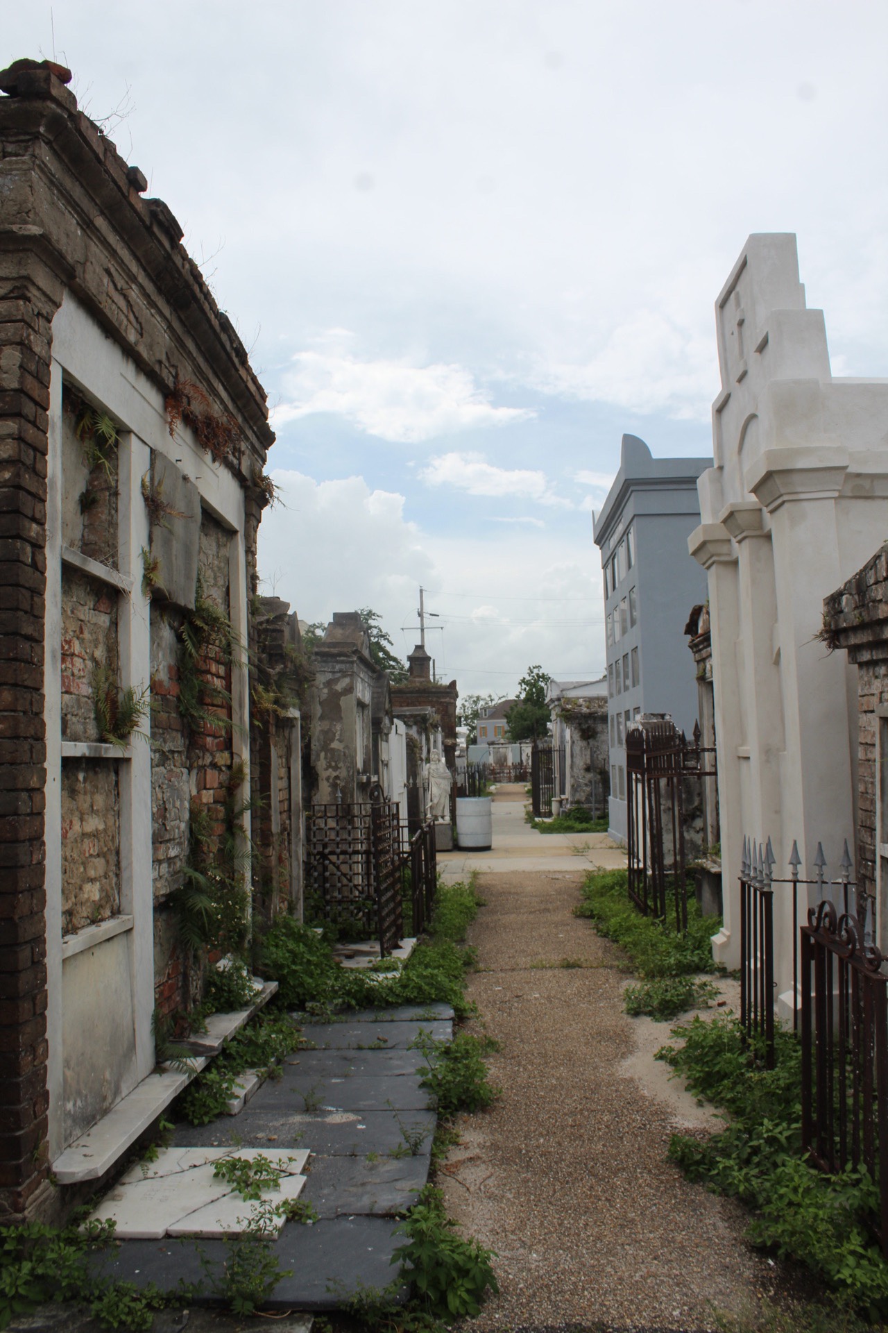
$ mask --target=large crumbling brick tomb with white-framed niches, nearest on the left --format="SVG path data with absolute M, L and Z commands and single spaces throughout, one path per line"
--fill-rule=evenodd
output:
M 250 833 L 249 607 L 270 497 L 244 345 L 69 77 L 48 61 L 0 73 L 0 1205 L 15 1214 L 52 1206 L 51 1172 L 96 1174 L 77 1149 L 96 1121 L 116 1114 L 114 1142 L 150 1122 L 152 1016 L 172 1022 L 201 981 L 180 933 L 185 868 L 218 898 L 210 954 L 249 929 L 233 849 Z M 269 897 L 298 892 L 289 861 L 269 874 Z

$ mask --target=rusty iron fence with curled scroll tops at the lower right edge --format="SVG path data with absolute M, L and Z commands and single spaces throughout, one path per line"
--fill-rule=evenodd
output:
M 888 977 L 860 914 L 829 901 L 801 926 L 801 1141 L 823 1172 L 863 1168 L 888 1257 Z

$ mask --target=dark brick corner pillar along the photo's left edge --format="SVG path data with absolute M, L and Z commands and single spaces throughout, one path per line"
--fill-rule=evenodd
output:
M 45 523 L 61 284 L 0 247 L 0 1213 L 47 1178 Z

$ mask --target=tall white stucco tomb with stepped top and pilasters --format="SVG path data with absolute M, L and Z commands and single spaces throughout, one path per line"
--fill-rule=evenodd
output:
M 724 929 L 739 961 L 743 836 L 817 841 L 837 868 L 855 825 L 856 682 L 819 633 L 823 599 L 885 536 L 888 383 L 832 375 L 792 235 L 751 236 L 716 303 L 715 463 L 699 480 L 691 553 L 708 572 Z M 775 894 L 779 990 L 792 985 L 789 894 Z M 791 1001 L 791 994 L 789 994 Z M 788 1001 L 784 994 L 784 1006 Z M 785 1012 L 785 1008 L 784 1008 Z

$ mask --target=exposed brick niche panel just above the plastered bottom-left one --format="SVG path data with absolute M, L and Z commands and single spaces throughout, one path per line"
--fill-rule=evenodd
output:
M 73 934 L 120 912 L 120 792 L 112 760 L 61 769 L 61 929 Z

